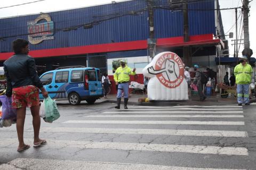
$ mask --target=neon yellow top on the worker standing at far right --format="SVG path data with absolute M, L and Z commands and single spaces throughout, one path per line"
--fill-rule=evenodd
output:
M 252 75 L 252 66 L 250 64 L 242 63 L 236 65 L 234 74 L 236 77 L 236 84 L 250 84 Z

